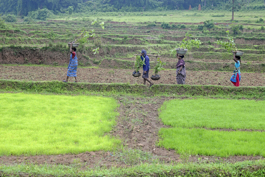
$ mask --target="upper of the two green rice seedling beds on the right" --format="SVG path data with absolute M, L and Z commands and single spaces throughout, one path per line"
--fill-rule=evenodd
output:
M 173 127 L 265 130 L 264 108 L 265 101 L 176 99 L 164 103 L 159 117 Z

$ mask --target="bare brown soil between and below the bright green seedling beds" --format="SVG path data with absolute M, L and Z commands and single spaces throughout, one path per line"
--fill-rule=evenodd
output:
M 109 132 L 110 135 L 120 138 L 125 148 L 136 148 L 149 152 L 154 158 L 158 158 L 164 163 L 182 162 L 180 155 L 172 149 L 157 147 L 158 131 L 161 127 L 166 127 L 158 119 L 157 109 L 166 100 L 173 98 L 135 98 L 122 97 L 116 98 L 120 107 L 118 108 L 119 117 L 117 126 Z M 219 158 L 216 156 L 189 156 L 190 162 L 204 161 L 217 162 L 222 159 L 223 162 L 237 162 L 245 160 L 258 160 L 261 156 L 231 156 L 228 158 Z M 201 159 L 201 160 L 200 160 Z M 199 161 L 198 161 L 199 160 Z M 61 155 L 39 155 L 39 156 L 1 156 L 0 163 L 11 165 L 15 163 L 34 164 L 81 164 L 81 167 L 94 166 L 130 166 L 134 165 L 121 160 L 119 152 L 84 152 L 80 154 L 61 154 Z

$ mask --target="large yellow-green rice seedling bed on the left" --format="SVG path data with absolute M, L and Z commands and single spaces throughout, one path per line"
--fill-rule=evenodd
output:
M 66 154 L 110 150 L 115 125 L 112 98 L 0 94 L 0 155 Z

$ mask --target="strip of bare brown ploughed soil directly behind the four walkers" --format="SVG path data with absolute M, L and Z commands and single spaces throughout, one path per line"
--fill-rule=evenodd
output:
M 188 85 L 222 85 L 233 86 L 229 81 L 231 72 L 215 71 L 187 71 L 186 84 Z M 65 67 L 38 67 L 38 66 L 6 66 L 0 65 L 0 79 L 16 79 L 23 81 L 62 81 L 66 78 Z M 104 68 L 78 68 L 77 78 L 79 82 L 89 83 L 130 83 L 142 84 L 141 77 L 134 78 L 131 69 L 104 69 Z M 240 86 L 264 86 L 264 73 L 242 73 Z M 149 77 L 152 76 L 152 70 Z M 155 84 L 176 84 L 176 70 L 164 70 L 160 72 L 161 78 L 153 81 Z M 259 79 L 254 79 L 259 78 Z M 70 82 L 74 78 L 69 79 Z

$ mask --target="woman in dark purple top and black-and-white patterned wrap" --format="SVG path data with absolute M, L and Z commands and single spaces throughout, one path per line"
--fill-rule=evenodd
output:
M 184 55 L 177 54 L 177 58 L 179 59 L 177 63 L 177 70 L 176 70 L 176 80 L 177 84 L 185 84 L 186 79 L 186 69 L 185 69 L 185 61 L 183 60 Z

